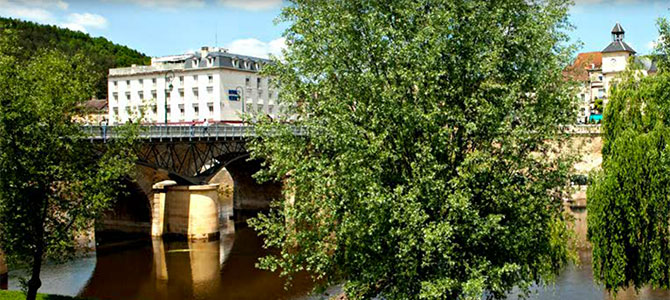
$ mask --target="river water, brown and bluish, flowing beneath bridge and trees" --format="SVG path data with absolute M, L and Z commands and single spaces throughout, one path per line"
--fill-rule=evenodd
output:
M 254 231 L 239 225 L 220 241 L 147 240 L 66 264 L 47 264 L 40 292 L 110 300 L 307 298 L 312 285 L 306 277 L 298 276 L 285 290 L 276 273 L 254 267 L 267 253 Z M 589 253 L 581 258 L 580 266 L 567 268 L 553 286 L 535 288 L 529 299 L 611 299 L 593 282 Z M 10 272 L 10 289 L 19 289 L 20 274 Z M 670 293 L 645 288 L 637 294 L 631 289 L 617 299 L 670 299 Z

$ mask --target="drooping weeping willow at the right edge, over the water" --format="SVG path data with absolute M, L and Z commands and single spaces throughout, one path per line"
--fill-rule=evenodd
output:
M 670 27 L 659 20 L 668 41 Z M 587 191 L 593 275 L 616 293 L 628 286 L 670 288 L 670 73 L 660 45 L 655 76 L 633 65 L 603 115 L 603 162 Z

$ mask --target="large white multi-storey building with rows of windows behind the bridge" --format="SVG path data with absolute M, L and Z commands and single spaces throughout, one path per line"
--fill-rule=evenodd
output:
M 243 112 L 276 116 L 277 91 L 258 71 L 268 60 L 203 47 L 194 54 L 153 58 L 150 66 L 109 70 L 109 120 L 239 121 Z M 166 103 L 167 101 L 167 103 Z

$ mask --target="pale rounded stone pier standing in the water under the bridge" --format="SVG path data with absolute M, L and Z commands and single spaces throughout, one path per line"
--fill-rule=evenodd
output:
M 218 185 L 154 185 L 151 234 L 188 239 L 212 239 L 219 235 Z

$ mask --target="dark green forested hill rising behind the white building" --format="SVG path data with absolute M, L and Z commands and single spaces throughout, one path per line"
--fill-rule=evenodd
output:
M 8 31 L 9 29 L 9 31 Z M 103 37 L 91 37 L 88 34 L 34 22 L 0 17 L 0 35 L 13 33 L 18 35 L 20 52 L 13 55 L 20 59 L 29 59 L 40 49 L 57 49 L 65 54 L 82 53 L 95 65 L 91 76 L 97 76 L 96 95 L 107 98 L 107 72 L 110 68 L 126 67 L 132 64 L 149 64 L 151 58 L 130 49 L 112 43 Z M 85 99 L 82 99 L 85 100 Z

